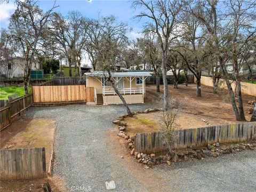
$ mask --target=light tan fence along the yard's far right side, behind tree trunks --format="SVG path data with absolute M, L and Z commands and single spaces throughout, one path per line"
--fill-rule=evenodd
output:
M 196 82 L 196 78 L 194 78 Z M 231 81 L 230 81 L 231 82 Z M 212 77 L 201 76 L 201 85 L 213 86 Z M 227 84 L 224 79 L 220 79 L 220 88 L 227 89 Z M 232 89 L 235 90 L 235 82 L 231 84 Z M 241 82 L 242 93 L 256 96 L 256 84 Z

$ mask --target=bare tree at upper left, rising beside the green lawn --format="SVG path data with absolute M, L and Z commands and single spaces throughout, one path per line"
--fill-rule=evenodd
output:
M 34 62 L 38 42 L 50 22 L 50 17 L 55 7 L 54 4 L 50 10 L 43 12 L 36 5 L 36 2 L 17 1 L 17 9 L 11 15 L 9 25 L 10 35 L 12 41 L 21 48 L 21 53 L 25 57 L 23 77 L 25 94 L 28 94 L 30 71 Z

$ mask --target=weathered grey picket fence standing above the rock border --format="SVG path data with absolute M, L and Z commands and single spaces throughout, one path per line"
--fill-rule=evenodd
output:
M 188 146 L 206 146 L 214 142 L 241 142 L 256 139 L 256 123 L 223 124 L 196 129 L 177 130 L 174 132 L 172 147 L 174 149 Z M 168 145 L 164 132 L 137 133 L 135 151 L 157 153 L 166 151 Z

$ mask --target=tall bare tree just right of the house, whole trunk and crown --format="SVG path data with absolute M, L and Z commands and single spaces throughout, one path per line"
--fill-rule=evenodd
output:
M 177 38 L 177 15 L 181 11 L 182 3 L 179 0 L 174 1 L 143 1 L 133 2 L 134 7 L 145 9 L 135 18 L 148 18 L 150 21 L 145 27 L 145 31 L 151 30 L 158 36 L 158 41 L 162 50 L 162 73 L 164 83 L 164 108 L 167 107 L 168 85 L 166 79 L 166 63 L 169 52 L 169 45 L 173 39 Z

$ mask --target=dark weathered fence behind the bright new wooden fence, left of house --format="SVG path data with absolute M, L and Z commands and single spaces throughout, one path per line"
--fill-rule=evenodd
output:
M 53 85 L 86 85 L 85 77 L 53 77 Z

